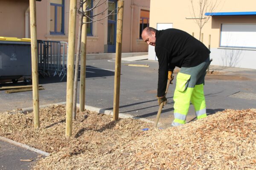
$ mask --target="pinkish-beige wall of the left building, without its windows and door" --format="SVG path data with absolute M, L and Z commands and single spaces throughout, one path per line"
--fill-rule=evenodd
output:
M 69 0 L 65 0 L 64 35 L 51 35 L 50 30 L 50 0 L 36 2 L 37 38 L 38 40 L 68 40 Z M 29 0 L 0 0 L 0 36 L 25 37 L 25 11 L 29 8 Z M 125 0 L 123 21 L 122 52 L 146 52 L 148 45 L 140 40 L 140 10 L 149 10 L 150 0 Z M 96 8 L 97 14 L 105 9 L 105 4 Z M 28 11 L 29 12 L 29 11 Z M 105 15 L 99 15 L 100 19 Z M 102 23 L 102 24 L 101 24 Z M 76 24 L 78 34 L 78 17 Z M 29 23 L 27 23 L 29 31 Z M 107 45 L 107 19 L 93 23 L 93 36 L 87 36 L 87 53 L 104 53 Z M 30 35 L 30 32 L 29 32 Z M 30 37 L 30 36 L 29 36 Z

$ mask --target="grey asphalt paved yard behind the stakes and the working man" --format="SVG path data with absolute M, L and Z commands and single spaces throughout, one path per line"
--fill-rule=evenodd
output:
M 148 64 L 150 67 L 131 67 L 125 64 Z M 113 109 L 114 60 L 88 60 L 86 73 L 86 105 L 102 109 Z M 256 108 L 256 70 L 241 68 L 224 68 L 212 66 L 225 74 L 213 74 L 206 77 L 205 96 L 207 113 L 212 114 L 224 109 Z M 154 120 L 157 114 L 157 72 L 158 62 L 140 60 L 122 62 L 121 91 L 119 111 L 134 116 Z M 176 76 L 176 74 L 175 74 Z M 39 92 L 40 105 L 66 101 L 66 78 L 59 77 L 39 79 L 45 90 Z M 23 85 L 22 82 L 18 83 Z M 7 84 L 1 84 L 6 86 Z M 0 86 L 1 86 L 0 85 Z M 163 108 L 160 122 L 169 126 L 173 119 L 174 85 L 170 85 L 167 99 L 169 103 Z M 79 102 L 79 96 L 78 96 Z M 0 91 L 0 112 L 32 107 L 32 92 L 6 94 Z M 195 118 L 191 105 L 187 121 Z

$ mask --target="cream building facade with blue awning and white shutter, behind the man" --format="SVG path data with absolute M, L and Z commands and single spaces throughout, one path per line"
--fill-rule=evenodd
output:
M 201 30 L 201 41 L 210 48 L 211 64 L 256 69 L 256 1 L 218 0 L 211 10 L 216 0 L 208 0 L 201 16 L 193 14 L 191 2 L 195 13 L 200 13 L 199 0 L 151 0 L 150 26 L 181 29 L 199 40 L 196 21 L 210 16 Z M 154 47 L 148 51 L 149 59 L 156 59 Z

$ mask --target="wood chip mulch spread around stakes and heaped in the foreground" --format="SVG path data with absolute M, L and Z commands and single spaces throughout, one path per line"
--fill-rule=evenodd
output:
M 32 113 L 13 113 L 0 113 L 0 136 L 51 153 L 34 170 L 256 169 L 256 109 L 225 110 L 164 130 L 85 111 L 77 113 L 72 137 L 65 137 L 65 106 L 42 108 L 37 130 Z

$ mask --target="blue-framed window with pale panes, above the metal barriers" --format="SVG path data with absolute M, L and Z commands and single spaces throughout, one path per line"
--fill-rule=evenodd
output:
M 64 0 L 51 0 L 50 34 L 64 34 Z

